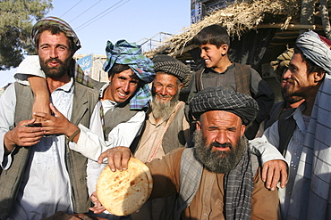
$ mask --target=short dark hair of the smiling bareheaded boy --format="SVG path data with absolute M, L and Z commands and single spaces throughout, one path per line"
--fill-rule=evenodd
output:
M 210 25 L 201 29 L 193 38 L 195 45 L 216 45 L 219 48 L 221 45 L 230 46 L 230 37 L 225 28 L 220 25 Z

